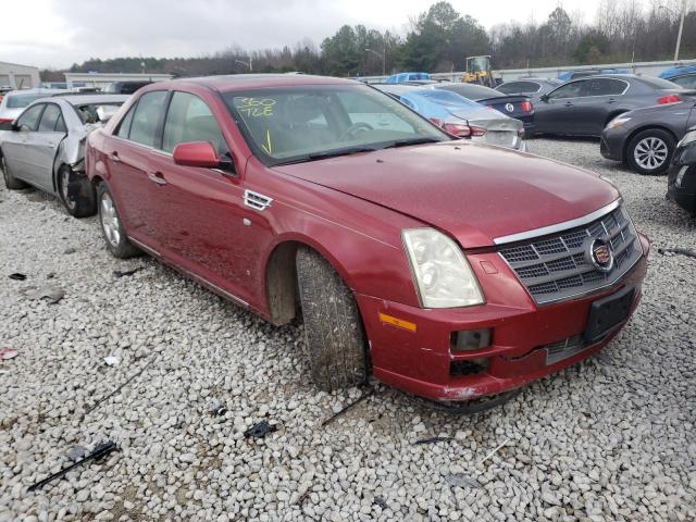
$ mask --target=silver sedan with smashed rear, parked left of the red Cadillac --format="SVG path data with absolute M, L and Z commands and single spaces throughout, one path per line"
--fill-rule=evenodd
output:
M 76 217 L 96 212 L 84 173 L 85 140 L 126 100 L 125 95 L 69 95 L 35 101 L 0 130 L 0 169 L 8 189 L 33 185 L 58 196 Z

